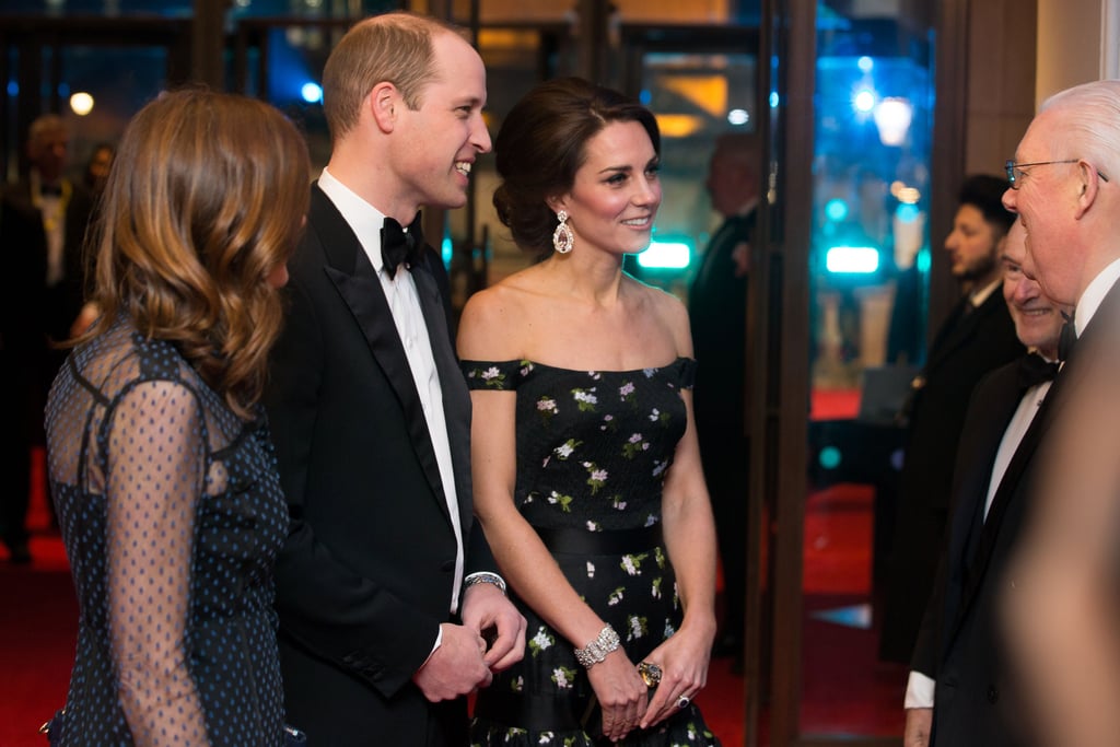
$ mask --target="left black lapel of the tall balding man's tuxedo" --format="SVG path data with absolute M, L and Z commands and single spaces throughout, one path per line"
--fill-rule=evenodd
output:
M 450 521 L 428 421 L 381 280 L 349 224 L 317 186 L 311 193 L 310 215 L 328 261 L 324 271 L 354 315 L 370 353 L 396 394 L 404 410 L 412 447 L 423 466 L 428 483 L 439 498 L 441 510 Z M 429 316 L 427 311 L 424 316 Z M 432 344 L 433 347 L 439 346 L 435 339 Z

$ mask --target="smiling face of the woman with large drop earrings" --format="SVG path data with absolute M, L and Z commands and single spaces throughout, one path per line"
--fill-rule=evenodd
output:
M 568 212 L 576 251 L 635 253 L 650 245 L 661 205 L 657 153 L 638 122 L 612 122 L 587 141 L 571 192 L 554 200 Z

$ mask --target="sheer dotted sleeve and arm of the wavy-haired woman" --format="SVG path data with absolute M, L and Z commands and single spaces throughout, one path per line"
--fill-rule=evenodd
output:
M 138 747 L 208 744 L 187 654 L 203 417 L 188 387 L 157 381 L 123 394 L 109 423 L 109 627 Z

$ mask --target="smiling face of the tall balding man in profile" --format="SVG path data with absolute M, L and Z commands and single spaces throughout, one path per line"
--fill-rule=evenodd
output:
M 432 48 L 436 77 L 423 87 L 419 109 L 398 104 L 393 171 L 402 183 L 402 199 L 418 207 L 461 207 L 475 159 L 491 149 L 482 114 L 486 71 L 478 54 L 455 34 L 437 34 Z

